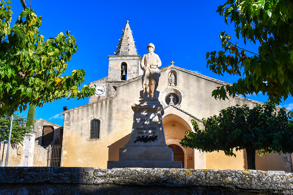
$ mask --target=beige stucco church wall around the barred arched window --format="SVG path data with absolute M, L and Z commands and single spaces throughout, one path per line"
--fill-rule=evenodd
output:
M 118 160 L 118 149 L 129 140 L 133 113 L 131 107 L 107 99 L 82 109 L 65 113 L 62 166 L 107 167 L 107 161 Z M 90 121 L 100 123 L 100 138 L 90 139 Z

